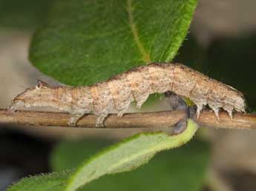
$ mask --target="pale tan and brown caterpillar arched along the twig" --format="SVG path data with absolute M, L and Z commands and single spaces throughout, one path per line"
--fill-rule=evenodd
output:
M 232 118 L 233 110 L 245 112 L 243 94 L 229 85 L 216 81 L 183 64 L 152 63 L 128 70 L 113 78 L 91 86 L 52 87 L 39 81 L 13 99 L 8 110 L 22 107 L 55 107 L 70 113 L 69 124 L 85 113 L 94 113 L 96 127 L 104 126 L 108 113 L 115 110 L 119 117 L 126 112 L 131 101 L 138 108 L 152 93 L 171 91 L 189 98 L 197 106 L 197 117 L 207 104 L 219 120 L 223 108 Z

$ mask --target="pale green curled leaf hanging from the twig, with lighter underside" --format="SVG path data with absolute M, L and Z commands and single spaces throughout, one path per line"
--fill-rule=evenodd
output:
M 156 153 L 185 144 L 196 131 L 197 124 L 188 119 L 188 127 L 179 135 L 143 133 L 128 138 L 85 161 L 70 177 L 66 190 L 77 190 L 102 175 L 134 170 L 146 164 Z

